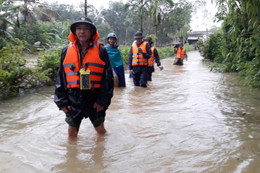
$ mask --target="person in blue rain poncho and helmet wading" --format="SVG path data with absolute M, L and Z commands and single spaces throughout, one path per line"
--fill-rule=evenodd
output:
M 123 60 L 117 45 L 117 36 L 115 33 L 109 33 L 107 35 L 108 45 L 105 46 L 110 58 L 110 62 L 115 72 L 114 80 L 118 81 L 118 87 L 125 87 L 125 71 L 123 66 Z M 116 85 L 116 84 L 115 84 Z

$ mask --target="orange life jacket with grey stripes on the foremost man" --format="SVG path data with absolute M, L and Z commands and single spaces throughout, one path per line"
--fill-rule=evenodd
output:
M 80 52 L 76 42 L 70 42 L 67 54 L 63 61 L 63 67 L 66 74 L 67 88 L 80 88 L 80 69 L 90 70 L 91 88 L 100 88 L 102 74 L 106 63 L 100 59 L 99 46 L 101 43 L 94 44 L 86 53 L 83 64 L 81 64 Z

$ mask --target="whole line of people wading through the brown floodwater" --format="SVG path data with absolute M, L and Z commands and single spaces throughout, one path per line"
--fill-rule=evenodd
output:
M 83 118 L 89 118 L 98 134 L 105 134 L 106 110 L 111 104 L 114 77 L 118 86 L 125 87 L 123 60 L 117 45 L 117 35 L 107 35 L 107 45 L 99 40 L 92 21 L 80 16 L 70 26 L 69 45 L 63 48 L 58 70 L 54 102 L 66 114 L 68 136 L 78 136 Z M 159 54 L 151 37 L 143 38 L 137 31 L 129 52 L 129 71 L 135 86 L 147 87 L 152 81 L 154 63 L 160 70 Z M 182 65 L 185 49 L 181 44 L 176 51 L 176 65 Z

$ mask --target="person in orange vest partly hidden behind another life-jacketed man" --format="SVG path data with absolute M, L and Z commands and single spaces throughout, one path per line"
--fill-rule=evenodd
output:
M 147 80 L 152 81 L 152 73 L 154 72 L 154 61 L 160 70 L 163 70 L 163 67 L 161 66 L 160 57 L 156 47 L 152 46 L 153 44 L 152 37 L 145 37 L 144 40 L 147 41 L 147 43 L 151 46 L 151 51 L 152 51 L 152 56 L 148 59 L 148 72 L 147 72 Z

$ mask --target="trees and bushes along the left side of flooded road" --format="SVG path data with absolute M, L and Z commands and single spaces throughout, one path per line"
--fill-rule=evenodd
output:
M 113 2 L 100 11 L 93 6 L 87 6 L 85 11 L 85 5 L 75 10 L 70 5 L 0 0 L 1 98 L 15 96 L 20 90 L 54 84 L 61 50 L 69 43 L 70 25 L 80 15 L 87 13 L 92 19 L 104 44 L 108 33 L 118 35 L 126 67 L 137 30 L 154 35 L 161 57 L 171 56 L 172 38 L 184 38 L 192 12 L 192 4 L 172 0 Z M 176 17 L 181 22 L 173 20 Z M 30 54 L 38 55 L 33 67 L 27 65 Z

